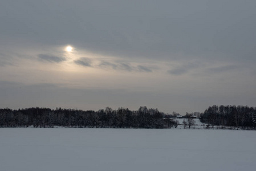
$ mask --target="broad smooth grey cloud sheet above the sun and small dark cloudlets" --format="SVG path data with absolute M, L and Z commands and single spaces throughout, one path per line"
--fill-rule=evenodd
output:
M 157 56 L 173 60 L 176 54 L 183 54 L 182 59 L 255 62 L 256 22 L 251 21 L 255 19 L 256 1 L 161 1 L 157 8 L 153 0 L 134 2 L 138 4 L 74 1 L 71 9 L 70 1 L 35 1 L 31 2 L 32 8 L 23 2 L 13 6 L 10 1 L 1 1 L 0 44 L 20 36 L 23 44 L 55 46 L 56 42 L 74 42 L 88 51 L 136 59 Z

